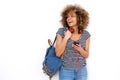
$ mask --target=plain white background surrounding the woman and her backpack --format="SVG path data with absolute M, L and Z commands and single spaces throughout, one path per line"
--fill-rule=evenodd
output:
M 1 0 L 0 80 L 48 80 L 47 39 L 61 27 L 62 9 L 75 3 L 90 14 L 88 80 L 120 80 L 119 0 Z

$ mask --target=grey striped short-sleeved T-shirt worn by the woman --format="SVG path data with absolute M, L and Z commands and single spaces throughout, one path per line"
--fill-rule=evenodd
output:
M 62 38 L 64 37 L 64 31 L 66 31 L 65 28 L 59 28 L 56 34 L 59 34 Z M 90 34 L 88 31 L 83 30 L 81 37 L 77 42 L 80 43 L 81 47 L 85 47 L 86 40 L 90 37 Z M 63 57 L 63 65 L 62 67 L 68 68 L 68 69 L 76 69 L 76 68 L 82 68 L 86 66 L 86 59 L 76 50 L 72 47 L 73 44 L 72 39 L 68 39 L 66 44 L 66 50 L 65 55 Z

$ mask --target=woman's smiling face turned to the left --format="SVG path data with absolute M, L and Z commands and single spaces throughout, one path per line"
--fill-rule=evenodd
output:
M 77 15 L 74 11 L 70 11 L 67 14 L 67 24 L 69 25 L 69 27 L 74 27 L 77 26 Z

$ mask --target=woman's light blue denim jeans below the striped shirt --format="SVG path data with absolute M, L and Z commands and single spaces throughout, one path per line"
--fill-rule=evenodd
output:
M 59 80 L 87 80 L 87 68 L 86 66 L 81 69 L 62 67 L 59 71 Z

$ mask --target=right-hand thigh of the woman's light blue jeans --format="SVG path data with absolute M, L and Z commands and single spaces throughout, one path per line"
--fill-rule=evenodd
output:
M 86 67 L 83 67 L 82 69 L 78 70 L 77 80 L 87 80 L 87 68 Z

